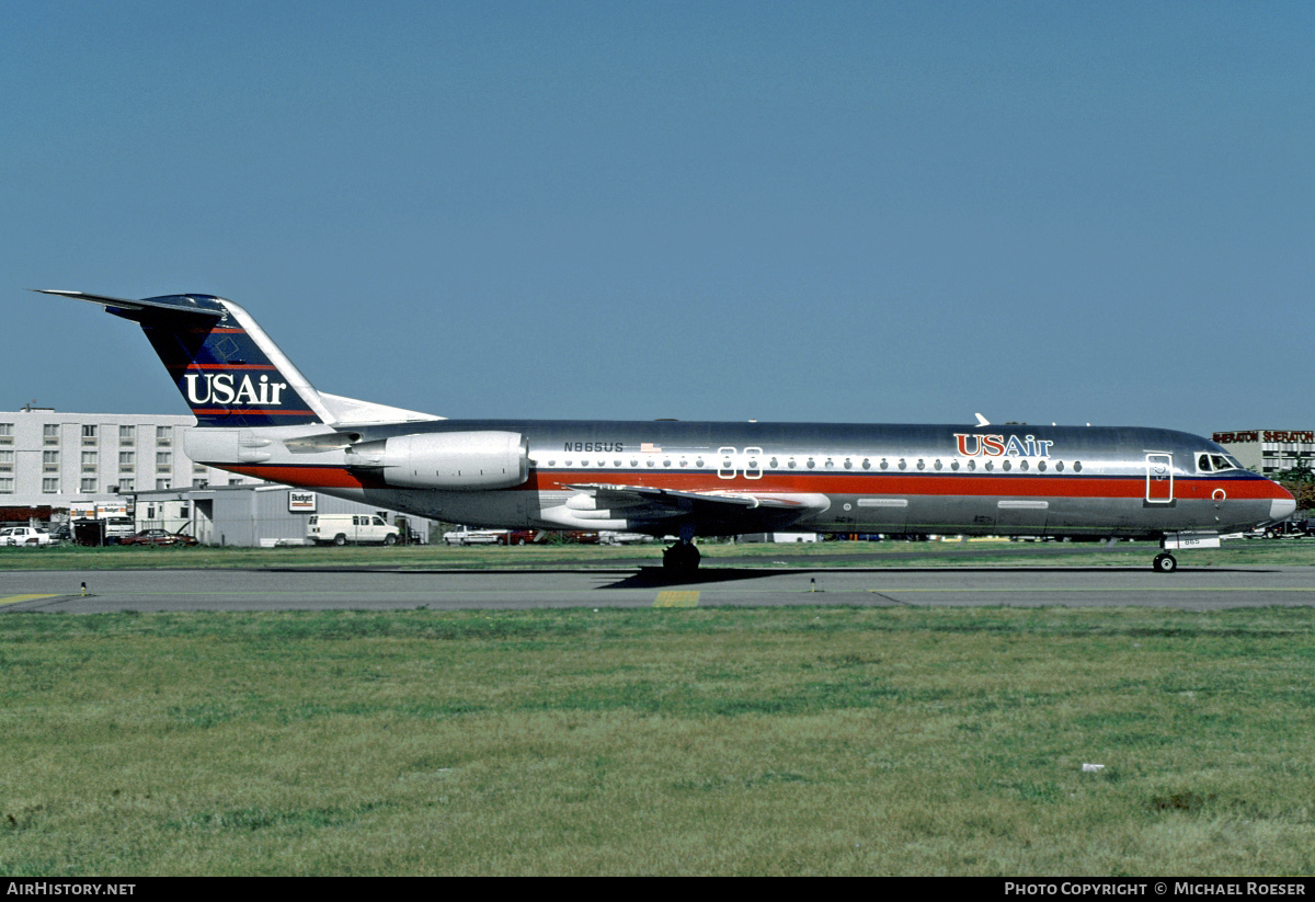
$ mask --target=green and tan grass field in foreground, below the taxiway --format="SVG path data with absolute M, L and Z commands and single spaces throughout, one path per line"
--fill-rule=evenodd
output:
M 1310 874 L 1312 665 L 1310 609 L 7 613 L 0 874 Z

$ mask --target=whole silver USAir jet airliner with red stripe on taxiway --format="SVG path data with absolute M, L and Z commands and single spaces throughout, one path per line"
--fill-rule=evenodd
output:
M 47 291 L 142 326 L 196 415 L 196 463 L 494 529 L 778 530 L 1155 539 L 1170 551 L 1289 517 L 1293 496 L 1164 429 L 444 419 L 316 391 L 212 295 Z

